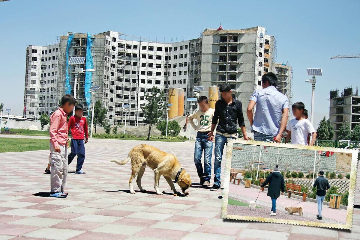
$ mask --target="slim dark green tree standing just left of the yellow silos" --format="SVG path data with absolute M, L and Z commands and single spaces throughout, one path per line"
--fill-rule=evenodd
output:
M 164 92 L 158 91 L 156 87 L 153 87 L 150 93 L 146 92 L 144 96 L 147 102 L 141 107 L 141 111 L 144 113 L 144 123 L 149 124 L 149 140 L 151 127 L 161 119 L 166 104 L 163 102 Z

